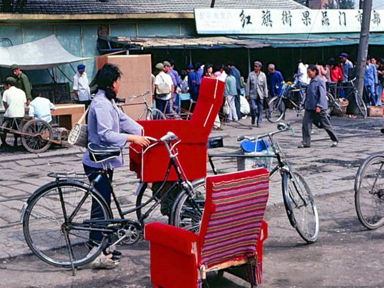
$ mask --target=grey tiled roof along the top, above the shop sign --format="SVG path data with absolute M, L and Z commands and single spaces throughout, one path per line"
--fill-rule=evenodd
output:
M 210 4 L 211 0 L 28 0 L 23 10 L 17 13 L 193 13 L 194 8 L 209 8 Z M 293 0 L 216 0 L 215 8 L 300 9 L 305 7 Z

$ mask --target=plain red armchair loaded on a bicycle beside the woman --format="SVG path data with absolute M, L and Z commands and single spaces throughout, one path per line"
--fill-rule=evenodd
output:
M 188 180 L 195 180 L 207 175 L 207 142 L 215 117 L 223 103 L 224 82 L 204 77 L 200 84 L 199 99 L 190 120 L 150 120 L 138 121 L 144 127 L 144 135 L 160 138 L 168 131 L 177 135 L 181 143 L 179 161 Z M 164 180 L 169 156 L 164 145 L 157 145 L 142 154 L 141 147 L 129 146 L 130 169 L 144 182 Z M 177 180 L 171 170 L 169 181 Z

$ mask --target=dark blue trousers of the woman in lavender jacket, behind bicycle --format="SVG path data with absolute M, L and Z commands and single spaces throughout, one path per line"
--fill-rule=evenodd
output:
M 83 164 L 84 172 L 85 173 L 92 173 L 100 171 L 100 168 L 93 168 L 91 166 Z M 99 173 L 93 173 L 88 176 L 89 182 L 93 181 Z M 101 174 L 101 180 L 98 181 L 98 183 L 95 183 L 95 188 L 98 190 L 98 192 L 103 196 L 104 200 L 106 201 L 107 205 L 111 207 L 111 186 L 108 183 L 107 176 L 105 174 Z M 113 170 L 108 169 L 108 176 L 109 180 L 112 181 L 113 178 Z M 103 210 L 101 210 L 100 205 L 97 203 L 97 201 L 94 201 L 92 199 L 92 210 L 91 210 L 91 219 L 100 218 L 103 216 Z M 94 246 L 92 243 L 97 242 L 100 243 L 101 240 L 103 240 L 103 234 L 99 231 L 91 231 L 89 233 L 89 241 L 90 245 Z

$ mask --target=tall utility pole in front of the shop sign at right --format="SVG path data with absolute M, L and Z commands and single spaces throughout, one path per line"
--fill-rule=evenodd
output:
M 364 0 L 362 21 L 361 21 L 360 41 L 359 41 L 359 51 L 358 51 L 358 58 L 357 58 L 357 64 L 356 64 L 357 85 L 358 85 L 358 91 L 360 95 L 363 95 L 363 90 L 364 90 L 364 73 L 365 73 L 365 66 L 367 65 L 366 63 L 367 63 L 367 54 L 368 54 L 369 24 L 371 23 L 371 10 L 372 10 L 372 0 Z M 358 114 L 357 105 L 353 105 L 353 107 L 354 107 L 353 112 L 355 112 L 354 114 Z

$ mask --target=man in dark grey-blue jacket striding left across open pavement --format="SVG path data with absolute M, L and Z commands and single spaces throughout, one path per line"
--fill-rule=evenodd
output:
M 309 65 L 307 73 L 308 77 L 311 78 L 311 81 L 307 88 L 307 95 L 304 102 L 303 144 L 299 145 L 298 148 L 307 148 L 311 146 L 312 123 L 318 128 L 325 129 L 333 141 L 331 147 L 336 147 L 338 138 L 333 131 L 326 112 L 328 109 L 328 102 L 326 98 L 327 92 L 325 82 L 318 76 L 319 71 L 315 65 Z

